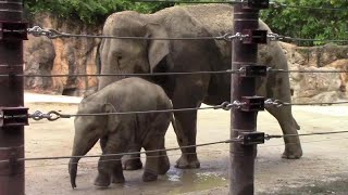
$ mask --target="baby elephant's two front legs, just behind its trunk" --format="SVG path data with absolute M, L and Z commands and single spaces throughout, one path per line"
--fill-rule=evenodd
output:
M 124 176 L 121 164 L 121 155 L 113 155 L 119 153 L 124 153 L 126 142 L 119 139 L 116 135 L 110 135 L 105 147 L 103 150 L 103 155 L 100 157 L 98 162 L 98 177 L 96 178 L 95 185 L 107 187 L 112 182 L 123 183 Z M 110 155 L 110 156 L 108 156 Z

